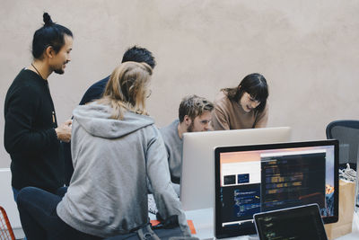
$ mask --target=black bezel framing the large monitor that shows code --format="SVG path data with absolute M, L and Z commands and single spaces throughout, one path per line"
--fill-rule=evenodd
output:
M 333 146 L 334 147 L 334 216 L 322 218 L 325 224 L 334 223 L 338 220 L 338 156 L 339 148 L 336 139 L 317 140 L 317 141 L 304 141 L 304 142 L 290 142 L 290 143 L 275 143 L 275 144 L 261 144 L 250 146 L 237 146 L 237 147 L 216 147 L 215 148 L 215 237 L 224 238 L 231 236 L 245 236 L 256 234 L 256 227 L 253 222 L 252 227 L 246 229 L 225 229 L 221 223 L 221 176 L 220 176 L 220 154 L 229 152 L 244 152 L 255 150 L 269 150 L 279 148 L 295 148 L 295 147 L 320 147 L 320 146 Z

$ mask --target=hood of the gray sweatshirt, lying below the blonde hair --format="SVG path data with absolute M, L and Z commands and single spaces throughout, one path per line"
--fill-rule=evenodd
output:
M 120 138 L 154 123 L 152 118 L 132 111 L 125 111 L 123 120 L 110 119 L 111 112 L 109 106 L 92 102 L 77 106 L 73 115 L 83 129 L 101 138 Z

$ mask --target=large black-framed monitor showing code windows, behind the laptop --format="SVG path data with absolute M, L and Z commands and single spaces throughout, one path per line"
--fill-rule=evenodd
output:
M 215 149 L 215 236 L 256 232 L 253 215 L 310 203 L 338 218 L 337 140 Z

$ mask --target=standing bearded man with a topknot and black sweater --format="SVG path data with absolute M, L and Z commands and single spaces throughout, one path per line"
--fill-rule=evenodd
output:
M 71 120 L 57 126 L 49 88 L 52 72 L 64 74 L 71 60 L 73 33 L 43 14 L 44 25 L 32 40 L 33 60 L 8 89 L 4 102 L 4 147 L 12 163 L 13 196 L 27 186 L 59 193 L 64 186 L 60 141 L 71 138 Z

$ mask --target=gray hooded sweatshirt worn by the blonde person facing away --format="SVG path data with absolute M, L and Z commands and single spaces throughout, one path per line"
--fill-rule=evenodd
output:
M 96 102 L 74 109 L 71 139 L 74 174 L 57 215 L 93 236 L 127 234 L 148 221 L 147 180 L 162 218 L 186 216 L 171 185 L 166 149 L 153 120 L 127 111 L 109 119 L 109 106 Z

